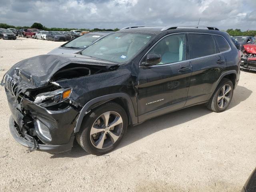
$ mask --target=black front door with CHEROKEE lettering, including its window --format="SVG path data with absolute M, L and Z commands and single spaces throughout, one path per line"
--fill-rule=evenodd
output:
M 139 122 L 182 108 L 191 76 L 186 34 L 168 35 L 148 52 L 160 54 L 161 62 L 140 67 L 138 73 Z M 142 59 L 143 62 L 144 59 Z

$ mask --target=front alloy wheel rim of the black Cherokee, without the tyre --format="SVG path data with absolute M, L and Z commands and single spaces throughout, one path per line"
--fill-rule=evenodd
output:
M 123 120 L 120 114 L 108 111 L 100 115 L 90 130 L 90 140 L 94 147 L 105 149 L 112 146 L 120 137 Z

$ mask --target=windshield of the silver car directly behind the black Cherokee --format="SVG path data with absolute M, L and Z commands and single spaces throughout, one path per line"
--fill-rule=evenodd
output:
M 95 35 L 95 34 L 85 34 L 83 36 L 80 36 L 70 42 L 68 42 L 64 47 L 69 48 L 86 48 L 88 45 L 92 44 L 94 41 L 96 41 L 98 38 L 100 38 L 102 35 Z

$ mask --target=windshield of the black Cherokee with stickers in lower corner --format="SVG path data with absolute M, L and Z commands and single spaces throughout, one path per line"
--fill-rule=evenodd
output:
M 82 55 L 123 63 L 133 58 L 153 37 L 153 34 L 117 32 L 92 44 Z

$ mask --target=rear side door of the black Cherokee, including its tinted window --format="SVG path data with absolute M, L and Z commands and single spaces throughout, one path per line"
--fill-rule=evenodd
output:
M 226 67 L 225 58 L 212 34 L 189 33 L 188 42 L 192 76 L 186 106 L 207 101 Z

